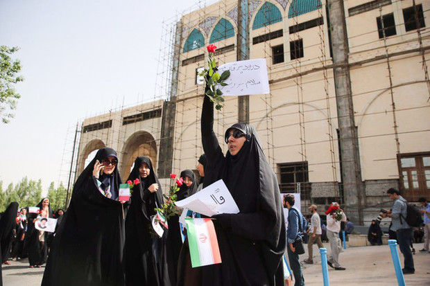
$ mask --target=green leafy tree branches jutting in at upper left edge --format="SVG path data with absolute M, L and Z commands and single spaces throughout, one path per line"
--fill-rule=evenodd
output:
M 17 46 L 0 46 L 0 116 L 3 123 L 9 123 L 9 118 L 15 116 L 11 111 L 17 108 L 17 99 L 21 97 L 15 91 L 15 84 L 24 80 L 17 75 L 21 71 L 21 62 L 10 57 L 18 50 Z

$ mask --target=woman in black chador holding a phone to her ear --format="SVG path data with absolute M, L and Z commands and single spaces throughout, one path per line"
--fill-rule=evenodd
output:
M 118 201 L 117 163 L 117 152 L 103 148 L 78 177 L 53 240 L 42 286 L 125 285 L 126 204 Z

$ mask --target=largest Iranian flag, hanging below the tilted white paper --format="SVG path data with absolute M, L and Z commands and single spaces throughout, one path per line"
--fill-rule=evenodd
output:
M 185 219 L 192 267 L 221 263 L 214 223 L 209 218 Z

